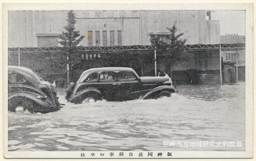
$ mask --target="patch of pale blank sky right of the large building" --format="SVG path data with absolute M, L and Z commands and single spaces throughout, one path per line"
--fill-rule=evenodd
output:
M 220 20 L 220 35 L 245 35 L 244 10 L 213 10 L 211 20 Z

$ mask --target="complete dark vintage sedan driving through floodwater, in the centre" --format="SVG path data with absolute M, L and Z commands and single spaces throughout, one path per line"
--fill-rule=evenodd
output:
M 76 83 L 70 83 L 66 99 L 73 103 L 157 99 L 176 92 L 169 77 L 139 77 L 132 68 L 92 68 L 84 71 Z

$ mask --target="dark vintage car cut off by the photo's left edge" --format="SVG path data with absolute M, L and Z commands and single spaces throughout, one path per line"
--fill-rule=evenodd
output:
M 32 113 L 57 111 L 61 104 L 57 93 L 48 81 L 42 80 L 32 70 L 8 66 L 8 110 Z

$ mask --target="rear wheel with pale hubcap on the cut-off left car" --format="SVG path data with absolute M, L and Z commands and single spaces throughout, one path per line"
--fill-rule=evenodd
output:
M 8 110 L 12 112 L 24 112 L 28 109 L 28 111 L 32 112 L 33 102 L 25 99 L 25 98 L 15 98 L 8 100 Z

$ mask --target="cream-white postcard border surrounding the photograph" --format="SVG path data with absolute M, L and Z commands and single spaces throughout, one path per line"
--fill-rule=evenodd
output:
M 125 5 L 124 5 L 125 4 Z M 253 156 L 253 4 L 252 3 L 5 3 L 3 4 L 3 107 L 8 106 L 8 10 L 246 10 L 246 150 L 245 151 L 172 151 L 171 158 L 251 158 Z M 84 151 L 8 151 L 8 110 L 4 119 L 4 156 L 7 158 L 82 158 Z M 110 151 L 104 151 L 110 152 Z M 120 152 L 120 151 L 113 151 Z M 125 151 L 124 151 L 125 152 Z M 127 151 L 129 153 L 130 151 Z M 138 151 L 136 151 L 138 152 Z M 145 151 L 147 152 L 147 151 Z M 153 151 L 153 153 L 158 151 Z M 90 153 L 87 151 L 86 153 Z M 89 155 L 86 155 L 89 156 Z M 92 157 L 94 158 L 94 157 Z M 100 158 L 100 156 L 95 156 Z M 104 157 L 106 158 L 106 157 Z M 121 158 L 118 156 L 108 158 Z M 134 156 L 134 158 L 138 158 Z M 149 158 L 149 157 L 147 157 Z M 154 157 L 153 157 L 154 158 Z M 158 157 L 155 157 L 158 158 Z M 162 157 L 163 158 L 163 157 Z

